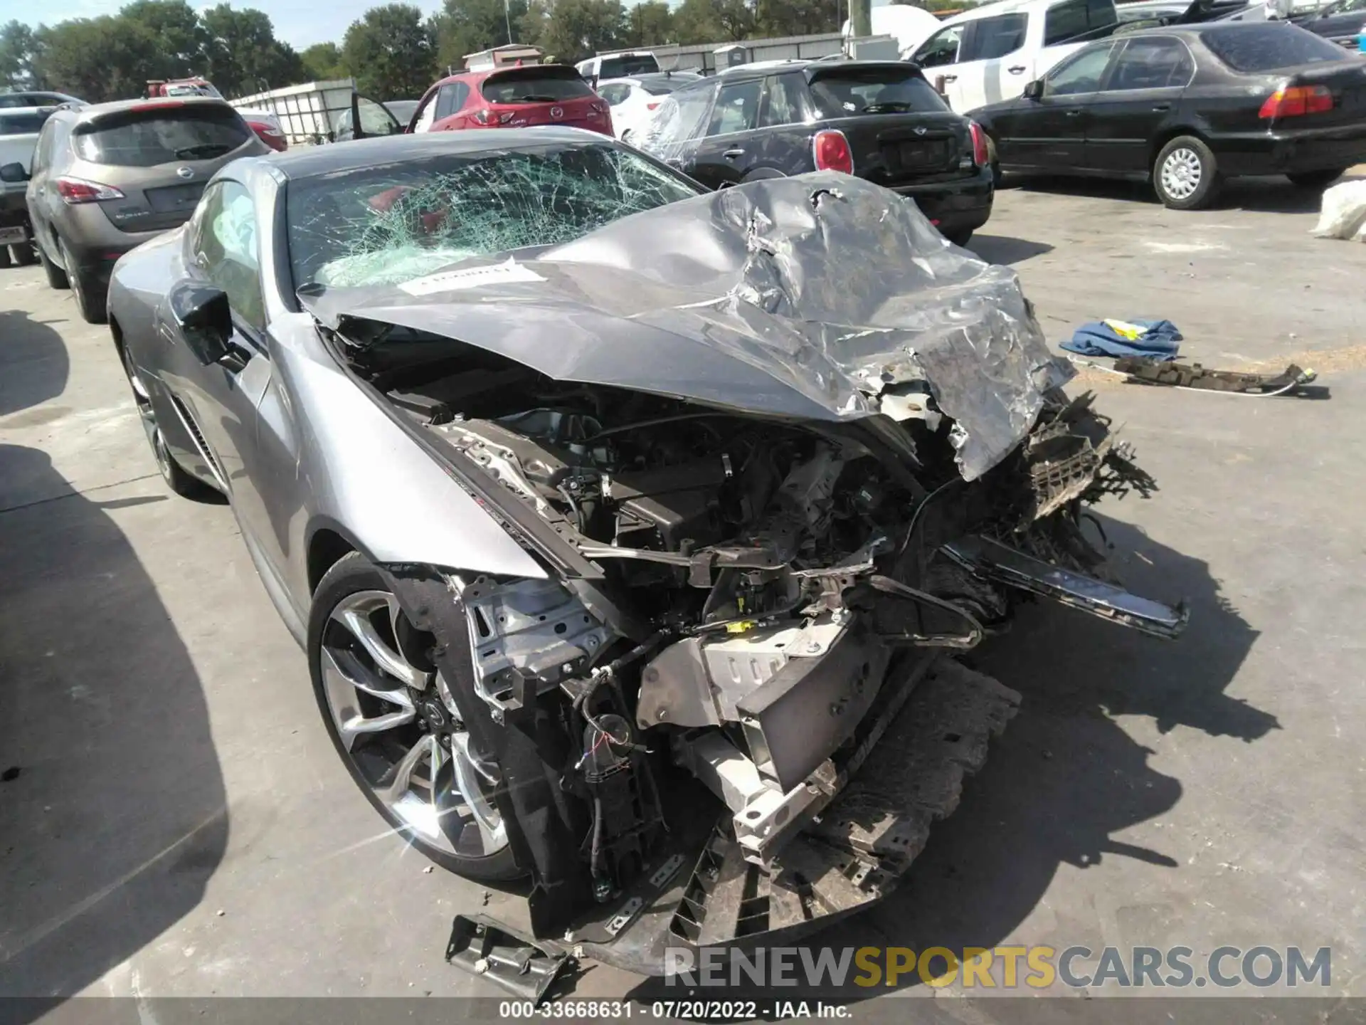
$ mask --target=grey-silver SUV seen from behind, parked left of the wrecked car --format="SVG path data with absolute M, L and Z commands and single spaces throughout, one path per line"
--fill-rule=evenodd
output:
M 109 271 L 130 249 L 178 228 L 213 174 L 266 148 L 221 100 L 122 100 L 63 108 L 42 126 L 27 180 L 38 260 L 53 288 L 70 287 L 81 316 L 105 320 Z

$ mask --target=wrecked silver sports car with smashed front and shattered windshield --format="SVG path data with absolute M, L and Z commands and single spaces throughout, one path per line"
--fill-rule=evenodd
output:
M 1186 623 L 1106 570 L 1087 507 L 1153 482 L 1015 275 L 856 178 L 709 193 L 557 128 L 254 157 L 109 325 L 362 793 L 527 877 L 552 958 L 878 899 L 1019 701 L 955 652 L 1040 596 Z

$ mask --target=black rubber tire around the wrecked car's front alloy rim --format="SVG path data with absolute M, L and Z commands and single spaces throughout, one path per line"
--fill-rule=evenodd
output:
M 322 723 L 332 738 L 332 746 L 336 749 L 342 758 L 342 763 L 347 767 L 351 774 L 351 779 L 355 780 L 361 793 L 365 794 L 370 805 L 380 813 L 380 816 L 389 824 L 393 831 L 403 836 L 411 846 L 417 847 L 425 857 L 434 861 L 441 868 L 454 872 L 466 879 L 474 879 L 481 882 L 505 882 L 512 879 L 519 879 L 525 873 L 516 865 L 512 856 L 511 845 L 504 845 L 500 850 L 482 856 L 471 857 L 467 854 L 460 854 L 454 850 L 443 850 L 429 842 L 417 830 L 408 827 L 393 810 L 380 798 L 376 793 L 376 784 L 373 780 L 366 779 L 363 775 L 359 760 L 366 757 L 370 748 L 358 743 L 358 750 L 355 754 L 350 752 L 342 739 L 342 734 L 337 730 L 336 720 L 333 718 L 332 707 L 328 701 L 326 683 L 324 681 L 322 672 L 322 649 L 324 645 L 329 646 L 332 651 L 332 642 L 335 637 L 329 638 L 329 631 L 336 629 L 337 620 L 333 619 L 333 611 L 347 599 L 362 594 L 363 592 L 384 592 L 389 593 L 389 585 L 385 578 L 376 570 L 376 567 L 366 560 L 359 552 L 351 552 L 337 560 L 332 569 L 329 569 L 322 579 L 318 582 L 317 589 L 313 593 L 313 607 L 309 612 L 309 634 L 307 634 L 307 656 L 309 656 L 309 675 L 313 679 L 313 693 L 318 701 L 318 711 L 322 715 Z M 400 614 L 402 615 L 402 614 Z M 406 622 L 406 620 L 404 620 Z M 411 629 L 411 625 L 410 625 Z M 343 634 L 344 636 L 344 634 Z M 404 648 L 408 645 L 395 644 L 393 648 Z M 392 676 L 387 678 L 387 683 L 403 689 L 403 683 Z M 426 693 L 426 692 L 423 692 Z M 378 701 L 378 698 L 374 698 Z M 391 707 L 392 708 L 392 707 Z M 407 728 L 407 727 L 400 727 Z M 418 730 L 417 724 L 413 724 L 414 731 Z M 366 738 L 374 738 L 369 743 L 377 742 L 380 738 L 387 737 L 387 733 L 372 733 L 362 734 Z M 421 734 L 417 734 L 421 735 Z M 402 745 L 400 745 L 402 746 Z M 373 756 L 370 756 L 373 758 Z M 449 816 L 443 816 L 444 823 L 460 821 L 459 819 L 451 819 Z M 467 827 L 469 828 L 469 827 Z M 463 834 L 462 834 L 463 836 Z

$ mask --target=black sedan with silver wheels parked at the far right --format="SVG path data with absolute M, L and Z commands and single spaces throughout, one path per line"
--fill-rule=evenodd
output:
M 1225 178 L 1322 187 L 1366 161 L 1366 60 L 1279 22 L 1149 29 L 970 116 L 999 172 L 1152 180 L 1168 206 L 1197 209 Z

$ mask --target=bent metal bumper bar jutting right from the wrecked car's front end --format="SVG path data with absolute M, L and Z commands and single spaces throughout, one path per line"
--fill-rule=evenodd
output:
M 951 541 L 944 545 L 944 554 L 996 584 L 1050 597 L 1153 637 L 1177 637 L 1190 620 L 1186 601 L 1172 608 L 1161 601 L 1138 597 L 1113 584 L 1050 566 L 988 537 Z

